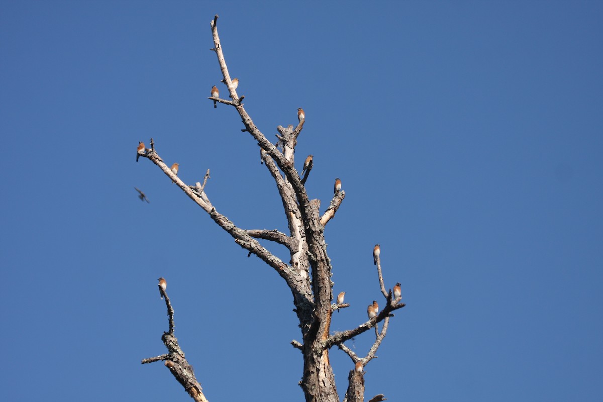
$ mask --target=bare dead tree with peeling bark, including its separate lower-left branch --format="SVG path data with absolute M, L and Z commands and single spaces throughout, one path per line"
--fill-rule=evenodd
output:
M 204 192 L 204 187 L 209 178 L 209 169 L 203 179 L 203 184 L 200 182 L 194 185 L 184 183 L 177 176 L 178 166 L 172 165 L 170 168 L 163 163 L 157 153 L 153 139 L 151 139 L 150 149 L 145 148 L 144 144 L 139 145 L 137 157 L 145 157 L 159 166 L 189 198 L 209 214 L 216 224 L 226 230 L 238 245 L 248 250 L 249 256 L 253 254 L 264 260 L 285 280 L 293 294 L 294 312 L 297 314 L 301 328 L 301 342 L 292 341 L 291 344 L 298 348 L 303 356 L 303 378 L 300 386 L 303 389 L 306 401 L 339 402 L 335 377 L 329 363 L 329 350 L 332 347 L 338 347 L 349 355 L 350 366 L 353 367 L 348 377 L 349 385 L 344 401 L 362 402 L 364 401 L 364 366 L 375 357 L 377 348 L 385 338 L 389 320 L 393 317 L 392 312 L 404 307 L 405 304 L 400 303 L 399 291 L 395 292 L 396 295 L 394 295 L 391 289 L 388 291 L 385 288 L 380 257 L 376 253 L 374 256 L 375 265 L 380 291 L 384 297 L 384 300 L 380 303 L 382 309 L 379 311 L 378 303 L 375 301 L 374 305 L 369 306 L 369 310 L 375 307 L 375 311 L 372 314 L 369 311 L 369 316 L 372 316 L 372 318 L 369 318 L 368 321 L 347 331 L 331 333 L 330 322 L 333 312 L 349 307 L 349 304 L 333 303 L 333 283 L 330 280 L 332 266 L 329 256 L 327 256 L 324 229 L 335 216 L 346 193 L 340 189 L 341 182 L 339 182 L 339 189 L 336 185 L 329 207 L 322 215 L 320 214 L 320 201 L 309 199 L 305 187 L 308 175 L 312 170 L 312 158 L 309 157 L 304 163 L 303 177 L 300 177 L 294 166 L 295 146 L 305 123 L 303 110 L 300 109 L 298 112 L 299 122 L 295 127 L 293 125 L 277 127 L 279 132 L 277 145 L 274 145 L 262 134 L 245 111 L 242 103 L 244 96 L 239 97 L 236 92 L 238 80 L 233 84 L 233 79 L 230 77 L 218 36 L 217 22 L 218 16 L 216 15 L 210 22 L 214 45 L 211 50 L 218 57 L 219 68 L 224 77 L 222 82 L 226 85 L 230 99 L 216 96 L 219 92 L 216 89 L 212 89 L 212 96 L 208 99 L 210 99 L 210 102 L 219 102 L 234 107 L 245 126 L 241 131 L 247 132 L 257 141 L 262 162 L 274 178 L 282 199 L 283 212 L 287 219 L 289 233 L 285 234 L 278 230 L 245 230 L 238 227 L 218 212 L 218 209 L 213 206 Z M 283 262 L 262 246 L 257 239 L 270 240 L 284 245 L 289 250 L 291 260 L 288 263 Z M 399 287 L 396 290 L 399 290 Z M 178 347 L 177 339 L 174 336 L 173 310 L 165 289 L 161 286 L 160 292 L 165 296 L 170 317 L 169 331 L 162 336 L 162 340 L 168 348 L 168 353 L 142 360 L 142 363 L 164 360 L 165 365 L 194 400 L 206 401 L 191 365 L 186 362 L 184 353 Z M 343 302 L 341 299 L 339 301 Z M 378 324 L 380 322 L 383 325 L 379 331 Z M 346 341 L 373 327 L 375 328 L 376 340 L 365 356 L 358 356 L 346 347 Z M 376 395 L 372 400 L 380 401 L 385 400 L 385 398 L 383 395 Z

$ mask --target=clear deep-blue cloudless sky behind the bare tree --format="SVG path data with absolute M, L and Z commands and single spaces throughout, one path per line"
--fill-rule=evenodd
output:
M 189 400 L 162 364 L 140 365 L 165 352 L 159 276 L 210 401 L 303 400 L 285 283 L 134 162 L 153 137 L 186 183 L 211 169 L 207 195 L 239 227 L 286 229 L 256 143 L 206 99 L 221 79 L 216 13 L 255 124 L 274 139 L 303 107 L 309 195 L 324 210 L 343 181 L 326 239 L 352 306 L 332 330 L 364 322 L 379 297 L 374 243 L 387 286 L 402 283 L 367 398 L 603 398 L 600 2 L 1 8 L 7 400 Z M 330 356 L 343 398 L 353 365 Z

